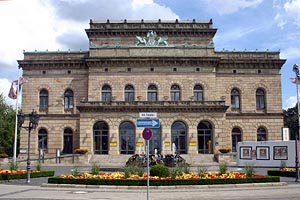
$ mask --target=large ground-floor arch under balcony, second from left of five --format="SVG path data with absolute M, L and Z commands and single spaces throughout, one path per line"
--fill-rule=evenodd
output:
M 123 122 L 120 125 L 120 153 L 134 154 L 135 150 L 135 126 L 132 122 Z

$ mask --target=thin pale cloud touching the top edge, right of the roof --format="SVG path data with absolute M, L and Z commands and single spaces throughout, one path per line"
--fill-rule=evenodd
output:
M 206 0 L 210 10 L 219 15 L 232 14 L 246 8 L 255 8 L 262 2 L 263 0 Z

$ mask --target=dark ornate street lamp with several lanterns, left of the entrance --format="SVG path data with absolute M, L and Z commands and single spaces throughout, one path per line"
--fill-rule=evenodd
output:
M 28 148 L 27 148 L 27 178 L 26 183 L 30 183 L 30 132 L 32 129 L 36 129 L 39 124 L 40 116 L 36 113 L 36 111 L 32 110 L 31 113 L 28 114 L 29 117 L 29 124 L 28 127 L 22 127 L 22 124 L 25 121 L 25 114 L 22 112 L 18 114 L 18 123 L 20 127 L 25 128 L 28 130 Z

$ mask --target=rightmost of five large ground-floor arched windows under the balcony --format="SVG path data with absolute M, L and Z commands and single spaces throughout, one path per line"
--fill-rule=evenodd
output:
M 198 153 L 213 153 L 213 128 L 208 121 L 201 121 L 197 126 Z

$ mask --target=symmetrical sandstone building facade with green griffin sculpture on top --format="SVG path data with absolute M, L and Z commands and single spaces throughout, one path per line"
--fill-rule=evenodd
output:
M 144 147 L 140 113 L 154 112 L 150 153 L 214 154 L 239 141 L 281 140 L 279 52 L 216 51 L 208 21 L 90 21 L 88 51 L 25 52 L 22 110 L 38 111 L 31 153 L 92 155 Z M 27 132 L 21 132 L 27 149 Z

